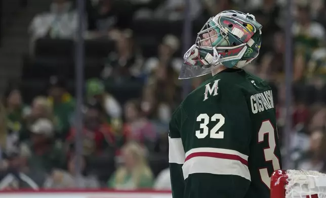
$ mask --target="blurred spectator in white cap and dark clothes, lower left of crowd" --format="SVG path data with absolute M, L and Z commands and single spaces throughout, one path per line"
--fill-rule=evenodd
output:
M 37 119 L 30 127 L 31 138 L 20 145 L 20 154 L 29 167 L 50 173 L 54 168 L 65 168 L 66 154 L 62 144 L 54 139 L 51 120 Z

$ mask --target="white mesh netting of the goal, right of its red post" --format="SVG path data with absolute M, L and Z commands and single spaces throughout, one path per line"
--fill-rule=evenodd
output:
M 317 171 L 287 170 L 286 198 L 326 198 L 326 174 Z

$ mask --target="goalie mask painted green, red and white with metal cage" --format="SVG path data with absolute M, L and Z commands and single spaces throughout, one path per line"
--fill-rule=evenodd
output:
M 261 29 L 253 15 L 239 11 L 223 11 L 210 18 L 185 53 L 179 79 L 209 74 L 220 65 L 248 65 L 259 54 Z

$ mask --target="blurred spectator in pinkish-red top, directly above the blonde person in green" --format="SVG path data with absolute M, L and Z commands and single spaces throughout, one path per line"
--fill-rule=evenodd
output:
M 156 140 L 156 131 L 153 124 L 142 115 L 140 103 L 130 100 L 125 105 L 125 132 L 127 141 L 134 140 L 145 143 L 149 149 L 153 148 Z

